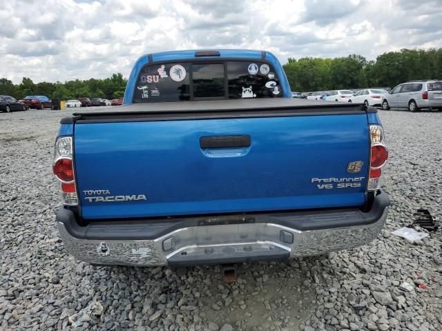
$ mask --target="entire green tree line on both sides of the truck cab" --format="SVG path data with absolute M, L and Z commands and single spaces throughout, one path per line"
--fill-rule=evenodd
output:
M 322 59 L 304 57 L 288 59 L 282 66 L 291 90 L 307 92 L 344 88 L 393 88 L 413 79 L 442 79 L 442 48 L 387 52 L 376 61 L 367 61 L 361 55 Z M 121 73 L 106 79 L 66 81 L 61 83 L 34 83 L 23 77 L 19 84 L 0 79 L 0 95 L 22 99 L 26 95 L 46 95 L 51 99 L 78 99 L 79 97 L 116 99 L 124 96 L 127 79 Z

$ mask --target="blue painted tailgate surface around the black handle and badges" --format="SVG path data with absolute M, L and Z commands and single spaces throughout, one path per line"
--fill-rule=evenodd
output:
M 75 166 L 85 219 L 256 212 L 363 205 L 366 114 L 77 123 Z M 200 137 L 249 134 L 249 150 L 207 154 Z M 364 161 L 358 174 L 347 163 Z M 364 177 L 359 188 L 320 190 L 312 178 Z M 145 194 L 88 202 L 84 190 Z

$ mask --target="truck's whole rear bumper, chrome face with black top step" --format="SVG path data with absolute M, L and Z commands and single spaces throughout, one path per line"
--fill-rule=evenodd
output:
M 372 209 L 310 210 L 143 221 L 95 221 L 80 227 L 61 208 L 66 250 L 104 265 L 199 265 L 284 260 L 347 250 L 376 238 L 387 219 L 385 192 Z

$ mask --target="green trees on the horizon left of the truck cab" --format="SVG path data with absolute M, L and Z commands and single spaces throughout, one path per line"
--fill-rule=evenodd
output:
M 50 99 L 78 99 L 80 97 L 117 99 L 124 96 L 127 79 L 121 73 L 112 74 L 106 79 L 88 79 L 86 81 L 66 81 L 61 83 L 34 83 L 32 79 L 23 77 L 19 84 L 9 79 L 0 79 L 0 95 L 10 95 L 23 99 L 26 95 L 46 95 Z

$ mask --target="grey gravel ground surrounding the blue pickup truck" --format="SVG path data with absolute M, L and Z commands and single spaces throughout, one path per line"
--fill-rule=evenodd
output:
M 442 330 L 441 230 L 419 244 L 390 234 L 417 208 L 442 225 L 441 112 L 380 112 L 392 209 L 377 239 L 325 257 L 243 265 L 233 285 L 219 267 L 178 276 L 67 254 L 50 171 L 66 114 L 0 113 L 0 330 Z

